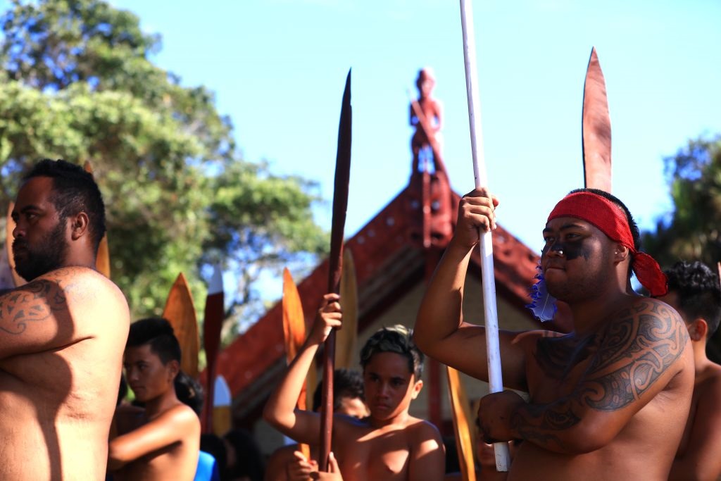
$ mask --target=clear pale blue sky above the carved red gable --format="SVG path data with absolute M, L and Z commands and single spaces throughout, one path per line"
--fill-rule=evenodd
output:
M 346 234 L 407 185 L 408 93 L 435 71 L 444 159 L 473 188 L 459 4 L 453 0 L 112 0 L 162 35 L 154 61 L 216 93 L 249 161 L 317 180 L 329 229 L 337 123 L 353 68 Z M 663 157 L 721 133 L 721 2 L 474 2 L 482 135 L 500 224 L 541 247 L 547 213 L 583 186 L 580 115 L 596 46 L 609 92 L 614 194 L 642 228 L 668 212 Z

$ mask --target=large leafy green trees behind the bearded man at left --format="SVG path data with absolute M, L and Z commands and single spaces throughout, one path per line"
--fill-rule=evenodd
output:
M 262 273 L 326 249 L 314 186 L 244 162 L 213 94 L 149 60 L 160 39 L 134 14 L 102 0 L 14 0 L 0 22 L 1 200 L 37 158 L 91 161 L 112 278 L 133 315 L 162 312 L 181 271 L 202 308 L 200 274 L 218 259 L 239 279 L 231 312 L 257 312 Z

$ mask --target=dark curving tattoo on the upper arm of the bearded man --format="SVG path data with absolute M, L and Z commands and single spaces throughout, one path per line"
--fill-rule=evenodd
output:
M 42 322 L 57 312 L 67 311 L 66 269 L 53 271 L 0 297 L 0 331 L 19 335 L 28 323 Z

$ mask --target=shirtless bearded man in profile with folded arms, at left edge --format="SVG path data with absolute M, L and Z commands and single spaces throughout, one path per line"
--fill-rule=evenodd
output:
M 123 294 L 94 269 L 102 196 L 81 167 L 45 159 L 12 218 L 28 283 L 0 296 L 0 479 L 102 480 L 130 323 Z

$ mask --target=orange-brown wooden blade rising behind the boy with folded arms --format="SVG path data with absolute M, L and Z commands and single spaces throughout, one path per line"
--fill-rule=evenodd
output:
M 175 337 L 180 343 L 180 369 L 193 379 L 198 379 L 198 317 L 195 314 L 193 295 L 190 294 L 183 273 L 178 274 L 170 288 L 163 317 L 172 325 Z

